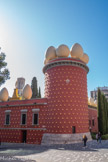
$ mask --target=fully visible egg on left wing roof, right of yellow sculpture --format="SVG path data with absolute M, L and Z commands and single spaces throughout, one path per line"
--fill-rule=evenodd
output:
M 25 99 L 30 99 L 32 97 L 32 89 L 28 84 L 24 87 L 23 97 Z

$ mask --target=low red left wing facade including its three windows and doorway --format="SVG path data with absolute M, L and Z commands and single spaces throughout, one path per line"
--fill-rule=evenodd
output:
M 45 98 L 0 103 L 1 141 L 41 144 L 46 110 Z

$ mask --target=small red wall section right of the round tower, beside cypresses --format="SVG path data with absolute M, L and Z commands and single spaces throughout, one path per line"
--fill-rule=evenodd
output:
M 97 109 L 88 106 L 88 110 L 89 110 L 89 128 L 91 128 L 91 132 L 98 132 Z M 93 120 L 94 120 L 94 125 L 93 125 Z

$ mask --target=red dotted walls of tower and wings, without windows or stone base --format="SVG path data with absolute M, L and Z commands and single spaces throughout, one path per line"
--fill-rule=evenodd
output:
M 55 61 L 58 59 L 50 63 Z M 27 109 L 26 125 L 21 125 L 23 109 Z M 32 109 L 40 109 L 39 125 L 32 125 Z M 6 110 L 11 110 L 10 125 L 5 125 Z M 95 132 L 97 110 L 88 109 L 86 70 L 77 66 L 56 66 L 45 72 L 45 98 L 0 102 L 0 138 L 2 142 L 21 143 L 22 131 L 27 129 L 26 142 L 40 144 L 43 133 L 71 134 L 72 126 L 76 127 L 76 133 L 89 132 L 92 118 L 96 122 L 91 126 Z

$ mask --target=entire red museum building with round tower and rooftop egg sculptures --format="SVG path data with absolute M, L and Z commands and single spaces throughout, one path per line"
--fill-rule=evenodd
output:
M 81 45 L 50 46 L 45 54 L 45 95 L 31 99 L 26 85 L 12 98 L 6 88 L 0 92 L 0 139 L 2 142 L 64 144 L 98 132 L 97 105 L 88 103 L 88 55 Z

